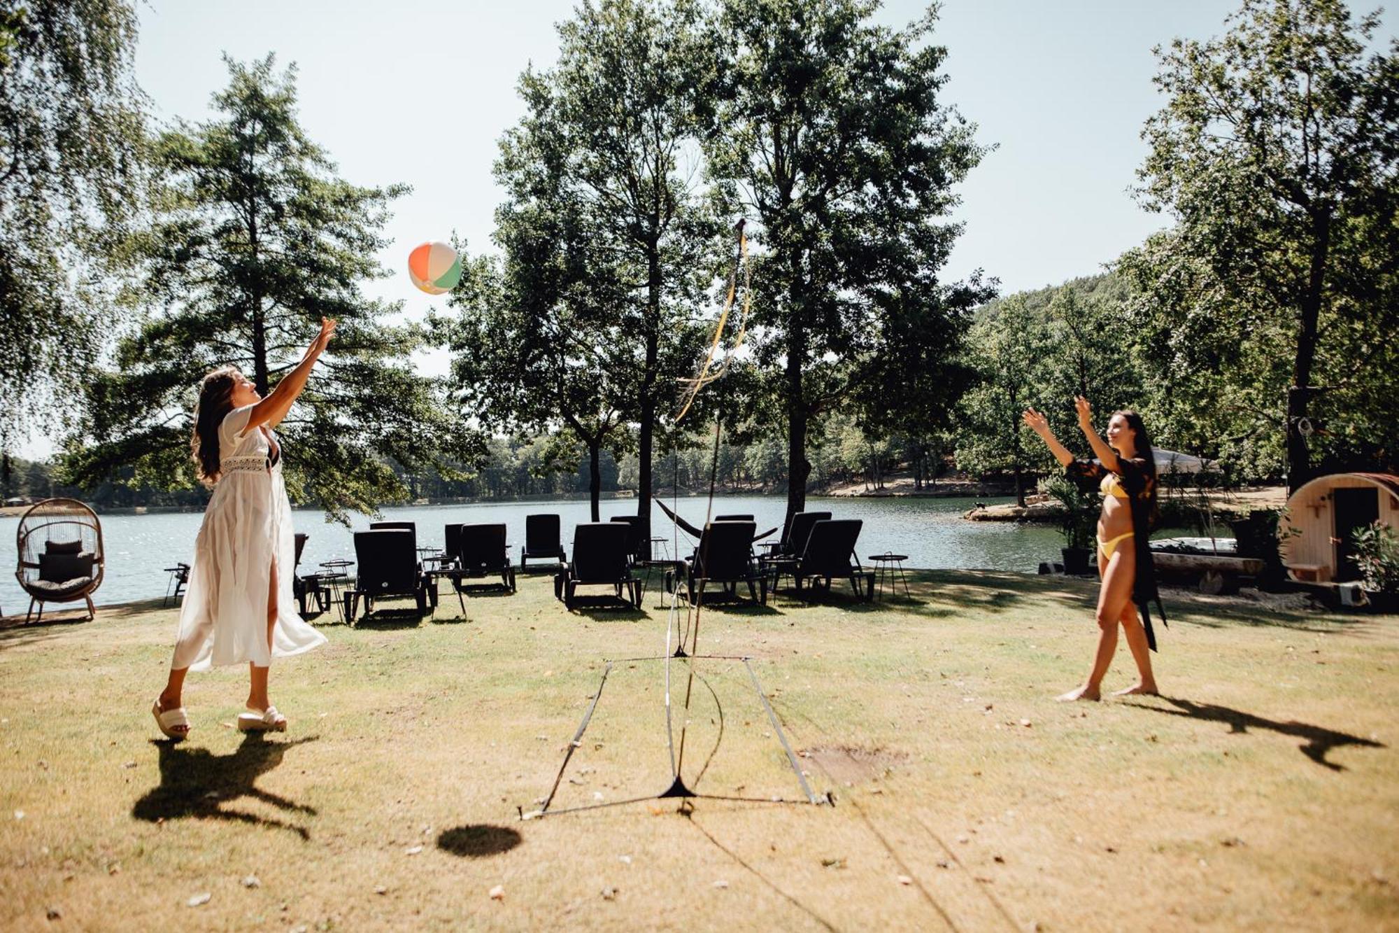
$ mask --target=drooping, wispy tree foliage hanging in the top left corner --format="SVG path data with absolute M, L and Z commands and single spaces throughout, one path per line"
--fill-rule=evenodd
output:
M 136 10 L 0 3 L 0 448 L 59 419 L 115 315 L 106 258 L 145 199 Z

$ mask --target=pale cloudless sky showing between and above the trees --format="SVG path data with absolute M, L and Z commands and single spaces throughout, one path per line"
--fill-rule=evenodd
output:
M 886 0 L 904 25 L 925 3 Z M 1165 219 L 1130 193 L 1144 120 L 1163 99 L 1153 46 L 1224 31 L 1237 0 L 946 0 L 936 41 L 947 48 L 944 101 L 977 123 L 990 151 L 961 185 L 965 223 L 943 280 L 975 269 L 1003 294 L 1100 272 Z M 516 81 L 557 56 L 554 24 L 572 0 L 145 0 L 136 77 L 158 122 L 211 118 L 227 85 L 221 56 L 269 52 L 297 63 L 299 119 L 339 174 L 357 185 L 404 182 L 381 262 L 393 277 L 372 297 L 434 301 L 407 277 L 409 251 L 453 233 L 492 249 L 501 191 L 491 175 L 501 133 L 523 115 Z M 1351 4 L 1353 10 L 1371 6 Z M 1385 18 L 1393 35 L 1395 15 Z M 445 373 L 445 353 L 421 360 Z M 48 455 L 32 438 L 29 455 Z

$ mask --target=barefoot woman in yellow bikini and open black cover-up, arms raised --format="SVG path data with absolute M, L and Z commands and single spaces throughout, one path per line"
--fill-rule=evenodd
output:
M 1126 635 L 1128 647 L 1140 674 L 1136 684 L 1116 691 L 1125 693 L 1156 693 L 1151 675 L 1151 651 L 1156 635 L 1147 604 L 1156 601 L 1156 573 L 1147 535 L 1156 513 L 1156 457 L 1151 440 L 1136 412 L 1116 412 L 1108 422 L 1108 441 L 1093 430 L 1093 409 L 1088 401 L 1077 398 L 1079 427 L 1083 429 L 1097 459 L 1074 459 L 1049 430 L 1045 416 L 1035 409 L 1024 413 L 1025 426 L 1039 434 L 1070 479 L 1080 483 L 1097 482 L 1102 492 L 1102 514 L 1098 517 L 1098 653 L 1093 671 L 1083 686 L 1069 691 L 1060 700 L 1101 698 L 1102 678 L 1108 672 L 1118 649 L 1118 625 Z M 1140 611 L 1140 618 L 1137 612 Z M 1165 623 L 1165 612 L 1161 612 Z

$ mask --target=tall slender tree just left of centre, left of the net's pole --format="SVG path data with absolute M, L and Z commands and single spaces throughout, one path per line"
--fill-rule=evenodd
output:
M 676 377 L 697 352 L 686 326 L 698 304 L 695 270 L 705 268 L 716 224 L 695 202 L 693 153 L 701 90 L 713 55 L 690 0 L 583 0 L 558 27 L 560 56 L 544 74 L 526 73 L 526 102 L 547 122 L 530 132 L 560 137 L 560 185 L 586 210 L 582 248 L 606 254 L 618 276 L 611 308 L 627 357 L 610 354 L 630 388 L 618 403 L 637 423 L 637 514 L 651 531 L 655 431 L 672 415 Z

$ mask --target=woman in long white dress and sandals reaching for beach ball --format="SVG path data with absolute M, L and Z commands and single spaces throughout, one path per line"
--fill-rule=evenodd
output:
M 271 429 L 301 395 L 334 329 L 334 321 L 322 318 L 301 363 L 267 398 L 231 366 L 200 384 L 190 447 L 196 472 L 214 486 L 214 496 L 194 541 L 169 679 L 151 707 L 159 730 L 175 741 L 189 735 L 180 705 L 185 675 L 243 661 L 250 684 L 238 728 L 285 730 L 287 717 L 267 699 L 267 667 L 274 657 L 301 654 L 326 640 L 294 608 L 291 503 L 281 444 Z

